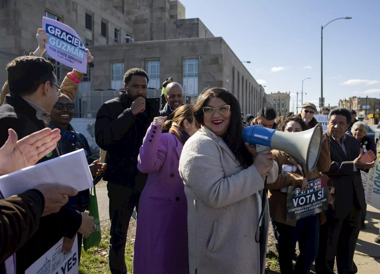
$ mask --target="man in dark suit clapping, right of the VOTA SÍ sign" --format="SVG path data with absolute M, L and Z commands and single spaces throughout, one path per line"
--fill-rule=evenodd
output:
M 331 168 L 327 173 L 332 202 L 326 211 L 327 222 L 320 227 L 320 244 L 315 260 L 317 274 L 356 273 L 353 256 L 366 201 L 360 169 L 375 165 L 375 153 L 363 154 L 358 140 L 345 134 L 351 122 L 350 111 L 336 108 L 329 113 L 326 135 L 330 139 Z

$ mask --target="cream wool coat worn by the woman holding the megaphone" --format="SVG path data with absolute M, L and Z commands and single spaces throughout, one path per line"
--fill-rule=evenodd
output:
M 222 138 L 205 127 L 182 150 L 179 174 L 188 207 L 190 274 L 260 274 L 256 193 L 264 188 L 265 177 L 253 165 L 243 170 L 235 159 Z M 277 178 L 273 164 L 268 183 Z

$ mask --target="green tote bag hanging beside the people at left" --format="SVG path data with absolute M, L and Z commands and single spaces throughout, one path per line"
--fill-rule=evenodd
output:
M 83 239 L 83 248 L 84 251 L 87 251 L 90 247 L 98 246 L 101 241 L 101 231 L 100 231 L 100 221 L 99 221 L 99 211 L 98 211 L 98 200 L 96 199 L 95 185 L 90 189 L 90 201 L 89 209 L 90 216 L 94 218 L 96 227 L 90 236 L 86 239 Z

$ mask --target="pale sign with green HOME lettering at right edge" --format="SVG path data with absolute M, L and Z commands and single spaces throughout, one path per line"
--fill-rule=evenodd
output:
M 380 166 L 378 160 L 376 160 L 376 165 L 368 173 L 360 172 L 366 203 L 380 210 Z

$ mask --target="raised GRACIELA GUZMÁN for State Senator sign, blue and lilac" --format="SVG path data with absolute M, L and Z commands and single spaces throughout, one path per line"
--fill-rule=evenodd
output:
M 79 35 L 68 25 L 47 17 L 42 18 L 42 26 L 49 38 L 46 52 L 54 60 L 87 72 L 87 51 Z

